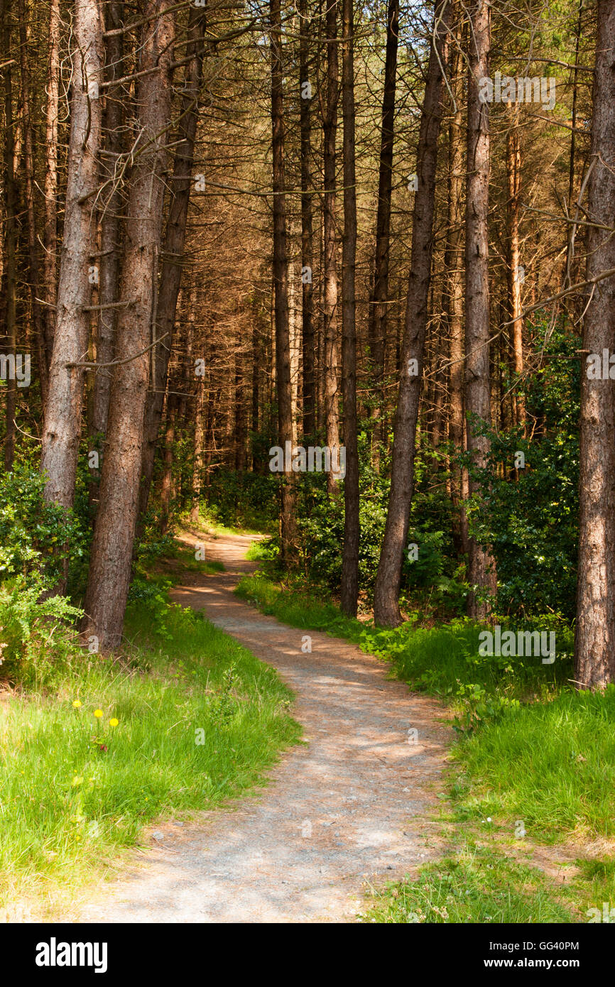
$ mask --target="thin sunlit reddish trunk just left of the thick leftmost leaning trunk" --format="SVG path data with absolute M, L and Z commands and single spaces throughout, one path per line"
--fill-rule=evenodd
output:
M 45 291 L 44 300 L 47 303 L 43 311 L 47 376 L 53 352 L 55 299 L 57 295 L 57 115 L 60 80 L 60 0 L 50 0 L 48 43 L 44 142 L 44 229 L 42 231 L 44 247 L 42 275 Z

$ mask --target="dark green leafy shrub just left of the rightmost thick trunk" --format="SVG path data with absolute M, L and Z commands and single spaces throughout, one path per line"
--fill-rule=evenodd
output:
M 556 331 L 549 351 L 573 356 L 577 337 Z M 527 388 L 528 407 L 542 422 L 531 442 L 516 429 L 496 432 L 475 421 L 491 452 L 473 469 L 482 497 L 469 506 L 471 528 L 492 546 L 498 608 L 507 613 L 575 613 L 578 544 L 578 361 L 549 360 Z M 514 479 L 515 453 L 525 468 Z

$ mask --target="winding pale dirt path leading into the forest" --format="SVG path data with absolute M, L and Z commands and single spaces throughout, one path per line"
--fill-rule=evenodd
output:
M 450 739 L 441 709 L 346 642 L 312 632 L 312 652 L 303 653 L 307 632 L 234 596 L 254 568 L 245 560 L 250 541 L 207 539 L 207 559 L 227 571 L 191 573 L 173 596 L 278 669 L 296 693 L 292 713 L 308 744 L 285 753 L 256 796 L 157 827 L 145 862 L 81 921 L 347 922 L 367 882 L 412 873 L 436 854 L 439 827 L 426 813 Z

